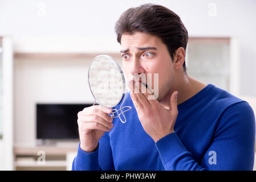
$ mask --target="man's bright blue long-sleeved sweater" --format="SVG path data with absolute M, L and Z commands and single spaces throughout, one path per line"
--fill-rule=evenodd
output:
M 96 151 L 78 147 L 73 170 L 253 169 L 253 110 L 225 90 L 208 84 L 178 105 L 175 133 L 156 143 L 141 126 L 129 94 L 123 106 L 132 106 L 127 122 L 115 118 Z

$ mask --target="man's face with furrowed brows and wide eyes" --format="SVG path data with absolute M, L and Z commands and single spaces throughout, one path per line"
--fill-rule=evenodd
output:
M 127 78 L 131 74 L 152 73 L 152 82 L 141 80 L 152 88 L 153 92 L 158 92 L 157 100 L 170 92 L 174 81 L 174 65 L 169 55 L 166 45 L 157 36 L 135 32 L 134 34 L 123 34 L 121 36 L 121 56 L 123 58 L 123 69 Z M 154 74 L 158 74 L 158 80 L 154 79 Z M 158 81 L 158 90 L 155 84 Z

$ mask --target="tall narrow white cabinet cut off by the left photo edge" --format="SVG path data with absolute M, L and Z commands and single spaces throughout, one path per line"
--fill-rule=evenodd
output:
M 0 38 L 0 169 L 13 169 L 13 46 Z

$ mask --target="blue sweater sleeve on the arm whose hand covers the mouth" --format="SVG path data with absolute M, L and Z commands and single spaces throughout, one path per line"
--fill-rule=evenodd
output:
M 177 133 L 156 142 L 165 170 L 252 170 L 254 164 L 255 118 L 243 101 L 226 108 L 212 142 L 200 162 L 193 159 Z

